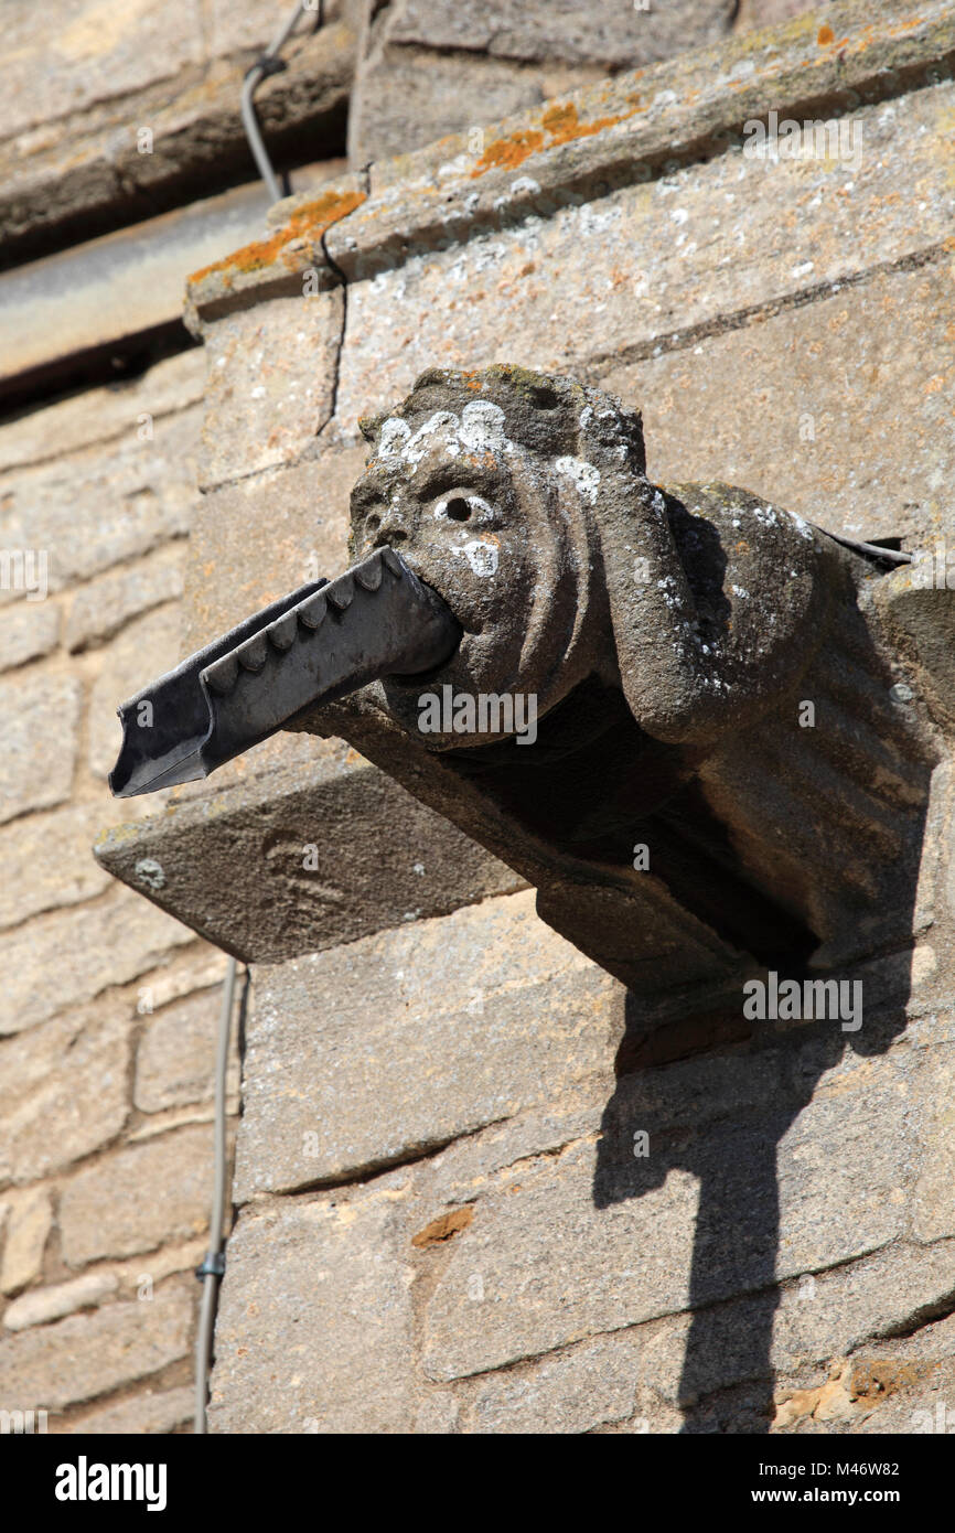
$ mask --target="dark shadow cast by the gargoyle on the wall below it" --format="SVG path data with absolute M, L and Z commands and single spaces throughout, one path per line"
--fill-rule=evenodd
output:
M 920 823 L 924 823 L 924 803 Z M 909 941 L 914 886 L 911 895 L 907 911 L 898 911 L 900 944 Z M 641 1036 L 645 1021 L 639 1001 L 632 992 L 627 995 L 627 1027 L 616 1058 L 618 1085 L 602 1118 L 593 1202 L 596 1208 L 609 1208 L 642 1197 L 662 1187 L 674 1170 L 697 1179 L 688 1282 L 693 1318 L 679 1383 L 684 1433 L 770 1430 L 776 1380 L 773 1325 L 780 1302 L 779 1145 L 812 1101 L 819 1079 L 840 1062 L 846 1050 L 861 1056 L 881 1055 L 904 1030 L 911 955 L 900 954 L 891 963 L 897 967 L 894 978 L 898 984 L 892 1006 L 872 1016 L 865 1015 L 857 1032 L 843 1032 L 838 1019 L 802 1024 L 745 1021 L 740 998 L 736 1010 L 685 1019 L 671 1030 L 667 1046 L 665 1033 Z M 803 977 L 799 977 L 800 983 Z M 851 969 L 838 978 L 849 986 L 861 983 Z M 782 977 L 779 983 L 783 983 Z M 849 989 L 845 993 L 858 992 Z M 702 1122 L 678 1118 L 665 1102 L 667 1072 L 661 1067 L 668 1062 L 667 1047 L 670 1059 L 679 1059 L 694 1049 L 710 1049 L 713 1042 L 731 1046 L 724 1059 L 730 1064 L 742 1102 L 736 1108 L 720 1102 L 717 1088 L 713 1116 L 705 1118 L 707 1104 L 701 1102 Z M 710 1052 L 699 1062 L 704 1070 L 711 1069 L 716 1058 Z M 756 1091 L 747 1090 L 751 1073 L 759 1076 Z M 871 1128 L 878 1131 L 875 1122 Z M 648 1134 L 645 1156 L 638 1153 L 638 1131 Z M 865 1153 L 865 1141 L 846 1144 L 845 1151 Z M 809 1168 L 808 1177 L 812 1176 Z M 812 1194 L 819 1196 L 817 1185 L 809 1187 Z M 724 1390 L 733 1392 L 720 1398 Z

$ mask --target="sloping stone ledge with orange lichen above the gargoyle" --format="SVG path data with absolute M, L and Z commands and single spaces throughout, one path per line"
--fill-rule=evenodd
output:
M 487 126 L 480 153 L 469 135 L 454 135 L 376 167 L 371 198 L 322 230 L 330 261 L 320 281 L 363 281 L 422 250 L 708 158 L 770 106 L 780 117 L 842 115 L 950 78 L 953 63 L 955 15 L 943 0 L 903 14 L 894 0 L 842 0 L 782 28 L 618 75 Z M 285 219 L 285 235 L 276 233 L 268 250 L 250 247 L 221 262 L 221 287 L 210 290 L 205 274 L 193 279 L 195 328 L 215 317 L 224 288 L 258 302 L 290 271 L 300 273 L 290 245 L 297 245 L 304 210 L 300 199 L 279 204 L 273 215 Z

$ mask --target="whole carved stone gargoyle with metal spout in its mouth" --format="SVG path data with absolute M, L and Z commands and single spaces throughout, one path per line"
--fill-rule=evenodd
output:
M 429 371 L 362 429 L 353 567 L 124 704 L 113 793 L 336 734 L 644 993 L 872 952 L 940 759 L 904 570 L 747 491 L 655 486 L 639 414 L 572 379 Z

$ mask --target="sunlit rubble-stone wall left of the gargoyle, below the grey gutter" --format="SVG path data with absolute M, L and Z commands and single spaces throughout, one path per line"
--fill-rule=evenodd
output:
M 204 371 L 187 351 L 0 426 L 5 547 L 49 581 L 0 592 L 0 1400 L 51 1430 L 192 1413 L 224 957 L 90 843 L 129 819 L 117 699 L 179 653 Z

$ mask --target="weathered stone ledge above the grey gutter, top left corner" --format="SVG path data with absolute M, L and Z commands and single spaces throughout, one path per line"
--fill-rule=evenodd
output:
M 259 92 L 256 109 L 265 138 L 281 159 L 296 155 L 304 135 L 316 158 L 340 153 L 356 51 L 356 31 L 342 17 L 343 9 L 348 6 L 334 0 L 327 5 L 325 25 L 311 34 L 305 29 L 291 43 L 287 72 L 281 80 L 264 81 Z M 141 34 L 138 43 L 149 48 L 152 63 L 143 61 L 138 83 L 129 90 L 120 86 L 120 94 L 109 74 L 90 67 L 90 58 L 98 63 L 100 48 L 103 55 L 110 48 L 112 25 L 103 38 L 87 34 L 86 54 L 67 61 L 58 49 L 60 35 L 51 44 L 32 12 L 26 52 L 18 58 L 26 98 L 35 94 L 43 100 L 49 90 L 51 48 L 58 89 L 67 89 L 71 74 L 78 72 L 80 78 L 69 86 L 72 98 L 58 101 L 58 110 L 43 113 L 37 126 L 12 138 L 5 136 L 0 146 L 5 182 L 0 238 L 15 251 L 14 259 L 32 259 L 71 239 L 89 239 L 90 231 L 149 219 L 179 205 L 190 193 L 207 195 L 210 185 L 228 184 L 236 173 L 251 175 L 239 90 L 251 49 L 258 46 L 253 34 L 262 34 L 264 28 L 274 35 L 279 23 L 274 12 L 267 21 L 262 12 L 253 18 L 245 6 L 235 18 L 205 11 L 199 20 L 198 8 L 190 11 L 192 61 L 181 58 L 178 64 L 161 41 L 153 48 L 149 38 L 156 25 L 167 29 L 166 18 L 159 20 L 162 8 L 149 6 L 146 17 L 139 8 L 124 18 L 127 40 L 135 41 Z M 37 67 L 43 72 L 43 89 L 32 92 Z M 118 77 L 123 74 L 120 69 Z M 150 140 L 143 141 L 143 129 L 149 129 Z M 14 132 L 9 115 L 8 132 Z

